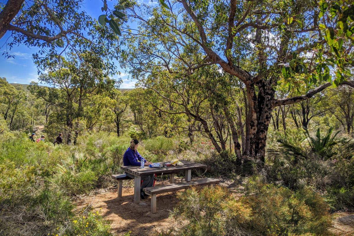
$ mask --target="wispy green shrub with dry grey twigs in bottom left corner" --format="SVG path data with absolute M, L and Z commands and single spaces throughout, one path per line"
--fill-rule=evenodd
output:
M 3 235 L 44 235 L 67 223 L 73 206 L 59 188 L 46 181 L 36 166 L 0 165 L 0 232 Z

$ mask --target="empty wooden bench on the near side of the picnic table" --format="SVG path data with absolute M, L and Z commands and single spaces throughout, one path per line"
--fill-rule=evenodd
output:
M 153 186 L 153 187 L 144 188 L 143 190 L 147 195 L 151 196 L 151 212 L 154 214 L 156 213 L 156 194 L 161 194 L 164 192 L 172 192 L 174 190 L 179 190 L 179 189 L 187 189 L 190 186 L 203 186 L 209 184 L 217 184 L 219 182 L 220 182 L 219 179 L 204 178 L 204 179 L 191 180 L 188 182 L 186 181 L 186 182 L 172 183 L 167 185 Z

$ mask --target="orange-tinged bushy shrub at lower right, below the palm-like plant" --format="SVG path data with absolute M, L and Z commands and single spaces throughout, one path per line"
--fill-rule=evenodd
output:
M 329 207 L 317 193 L 292 191 L 272 184 L 250 183 L 240 201 L 252 208 L 256 235 L 329 235 Z

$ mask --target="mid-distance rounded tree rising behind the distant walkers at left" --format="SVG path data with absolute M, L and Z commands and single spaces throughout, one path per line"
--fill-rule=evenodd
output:
M 115 80 L 109 77 L 113 69 L 101 57 L 85 52 L 80 54 L 80 58 L 73 54 L 70 60 L 59 56 L 48 61 L 45 65 L 48 73 L 39 76 L 39 81 L 50 85 L 50 88 L 40 87 L 35 82 L 29 85 L 31 93 L 56 107 L 51 117 L 65 123 L 68 143 L 75 125 L 77 127 L 84 117 L 85 100 L 111 90 L 115 84 Z M 75 134 L 74 138 L 77 132 Z

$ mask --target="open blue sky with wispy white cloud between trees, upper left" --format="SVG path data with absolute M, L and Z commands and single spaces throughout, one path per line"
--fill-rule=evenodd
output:
M 0 0 L 0 2 L 4 4 L 7 0 Z M 108 0 L 108 7 L 112 9 L 116 2 L 116 0 Z M 144 2 L 149 5 L 158 4 L 155 0 L 153 2 L 149 0 L 138 0 L 138 2 Z M 85 0 L 82 5 L 82 10 L 97 19 L 99 15 L 102 15 L 102 6 L 103 2 L 101 0 Z M 11 38 L 9 38 L 10 35 L 11 32 L 7 32 L 0 39 L 0 77 L 5 77 L 10 83 L 29 84 L 31 81 L 38 82 L 37 68 L 32 60 L 32 53 L 38 51 L 38 48 L 28 48 L 24 45 L 14 46 L 10 54 L 14 55 L 15 58 L 6 59 L 4 56 L 1 56 L 2 52 L 6 51 L 6 41 L 11 40 Z M 114 76 L 114 79 L 121 78 L 123 80 L 123 84 L 120 87 L 134 88 L 136 81 L 131 80 L 129 75 L 124 73 L 123 69 L 119 68 L 117 62 L 115 62 L 115 65 L 118 67 L 118 70 L 121 71 L 120 76 Z

